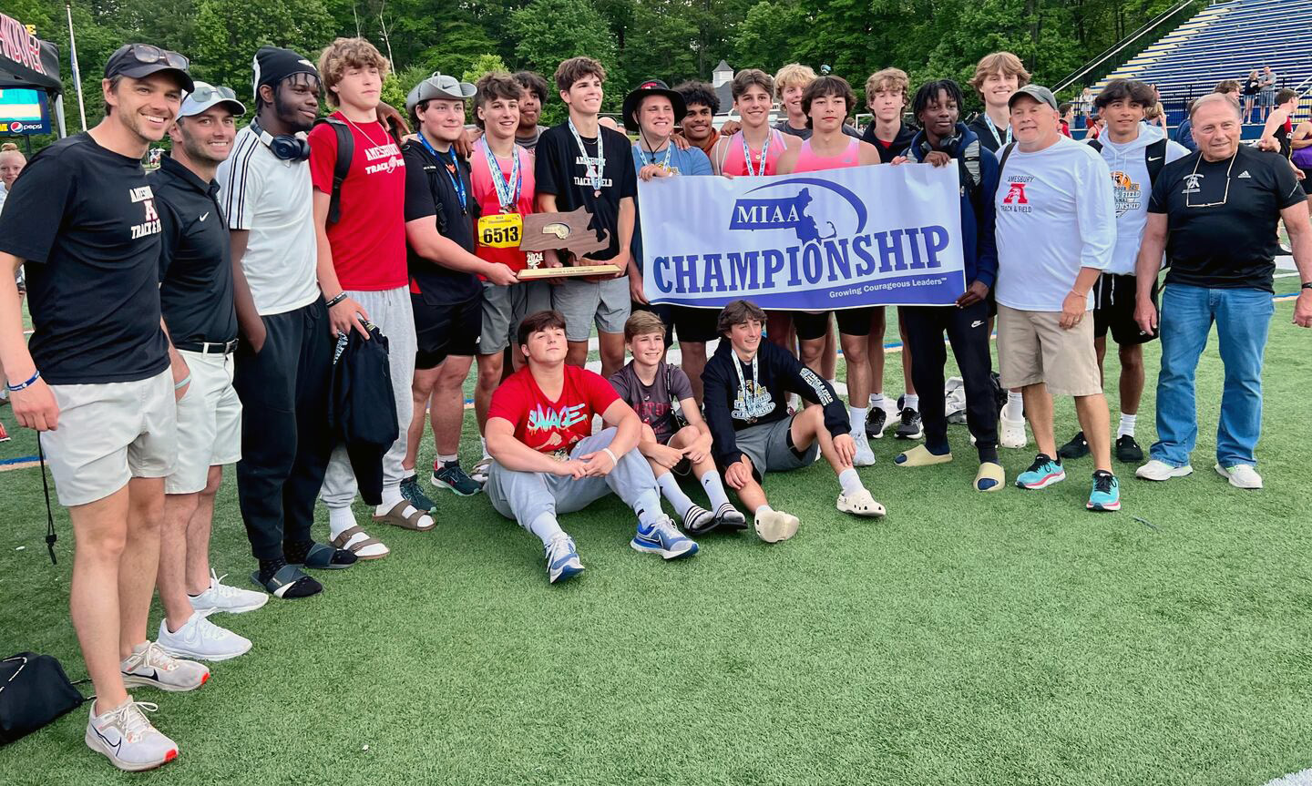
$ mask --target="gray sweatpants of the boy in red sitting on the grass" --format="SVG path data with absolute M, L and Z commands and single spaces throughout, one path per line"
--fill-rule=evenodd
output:
M 569 458 L 598 451 L 614 438 L 615 429 L 609 428 L 580 440 L 569 451 Z M 517 472 L 492 462 L 483 491 L 487 492 L 497 513 L 518 521 L 523 529 L 529 529 L 543 513 L 555 516 L 583 510 L 611 492 L 625 500 L 634 512 L 660 509 L 656 476 L 638 450 L 630 450 L 619 457 L 619 463 L 605 478 L 580 480 L 547 472 Z

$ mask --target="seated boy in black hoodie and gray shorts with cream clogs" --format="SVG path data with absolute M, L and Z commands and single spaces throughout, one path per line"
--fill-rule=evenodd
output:
M 817 453 L 838 476 L 838 510 L 883 516 L 884 507 L 851 465 L 857 444 L 838 394 L 787 349 L 761 341 L 764 324 L 765 311 L 756 303 L 733 300 L 726 306 L 719 320 L 723 340 L 702 374 L 715 462 L 724 482 L 756 514 L 756 534 L 768 543 L 796 534 L 798 517 L 766 503 L 761 478 L 769 471 L 810 466 Z M 819 407 L 790 415 L 790 392 Z

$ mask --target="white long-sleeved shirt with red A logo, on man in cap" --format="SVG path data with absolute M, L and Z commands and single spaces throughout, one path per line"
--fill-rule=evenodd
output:
M 1080 268 L 1106 270 L 1117 244 L 1111 171 L 1065 136 L 1036 152 L 1012 150 L 994 197 L 997 302 L 1061 311 Z M 1089 295 L 1093 308 L 1093 295 Z

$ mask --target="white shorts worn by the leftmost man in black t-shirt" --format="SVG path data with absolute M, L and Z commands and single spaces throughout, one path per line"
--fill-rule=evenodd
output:
M 168 369 L 148 379 L 51 384 L 59 428 L 41 434 L 66 508 L 102 500 L 133 478 L 165 478 L 177 455 L 177 408 Z

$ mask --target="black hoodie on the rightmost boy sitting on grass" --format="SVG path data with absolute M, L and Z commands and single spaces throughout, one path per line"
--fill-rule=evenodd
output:
M 737 432 L 753 425 L 775 423 L 789 416 L 789 394 L 795 392 L 812 404 L 824 407 L 824 424 L 834 437 L 851 432 L 848 409 L 829 383 L 819 374 L 802 365 L 789 350 L 761 339 L 757 350 L 757 383 L 760 396 L 748 402 L 739 400 L 739 373 L 733 365 L 743 369 L 743 379 L 752 384 L 752 363 L 739 361 L 733 344 L 720 339 L 715 354 L 706 362 L 702 371 L 702 384 L 706 390 L 706 424 L 711 428 L 715 461 L 727 467 L 743 458 L 737 449 Z M 769 400 L 765 400 L 766 396 Z M 754 416 L 748 412 L 754 411 Z

